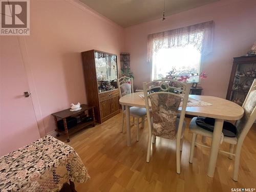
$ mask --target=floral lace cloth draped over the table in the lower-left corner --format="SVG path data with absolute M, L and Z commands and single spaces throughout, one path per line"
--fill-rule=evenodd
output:
M 75 150 L 47 135 L 0 157 L 0 191 L 59 191 L 66 182 L 86 182 L 86 167 Z

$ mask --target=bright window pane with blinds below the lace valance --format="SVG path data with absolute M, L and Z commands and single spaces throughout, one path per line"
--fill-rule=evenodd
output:
M 202 37 L 203 32 L 197 36 Z M 202 44 L 202 38 L 199 44 Z M 153 42 L 158 44 L 157 40 Z M 190 75 L 200 73 L 201 50 L 194 45 L 188 44 L 180 47 L 161 48 L 153 52 L 152 57 L 152 80 L 164 78 L 173 68 L 176 75 Z M 198 82 L 199 77 L 191 77 L 189 82 Z

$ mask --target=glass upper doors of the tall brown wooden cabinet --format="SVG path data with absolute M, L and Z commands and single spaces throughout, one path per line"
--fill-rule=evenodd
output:
M 116 55 L 95 52 L 95 67 L 98 91 L 117 89 L 117 57 Z

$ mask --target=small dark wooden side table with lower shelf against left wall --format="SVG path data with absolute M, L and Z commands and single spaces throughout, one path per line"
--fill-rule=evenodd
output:
M 67 141 L 69 142 L 70 139 L 69 139 L 69 130 L 68 130 L 68 126 L 67 126 L 67 121 L 66 121 L 66 118 L 67 117 L 70 117 L 70 116 L 74 116 L 74 115 L 79 115 L 81 113 L 84 113 L 86 111 L 89 111 L 91 110 L 91 116 L 93 118 L 92 121 L 88 121 L 88 122 L 81 122 L 81 123 L 78 123 L 76 126 L 72 127 L 72 133 L 88 126 L 88 125 L 93 125 L 95 126 L 96 123 L 95 123 L 95 116 L 94 116 L 94 108 L 95 106 L 93 105 L 88 105 L 88 104 L 81 104 L 81 108 L 80 110 L 78 111 L 70 111 L 70 109 L 67 109 L 67 110 L 63 110 L 63 111 L 59 111 L 57 113 L 53 113 L 52 115 L 54 116 L 54 120 L 55 120 L 55 126 L 56 126 L 56 132 L 57 132 L 57 137 L 59 136 L 59 133 L 61 132 L 59 129 L 58 129 L 58 124 L 57 124 L 57 121 L 58 119 L 62 119 L 63 120 L 63 124 L 64 124 L 64 128 L 65 128 L 65 134 L 67 136 Z

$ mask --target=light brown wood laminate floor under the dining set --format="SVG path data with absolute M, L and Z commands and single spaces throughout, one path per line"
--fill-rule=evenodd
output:
M 127 147 L 126 133 L 120 133 L 121 119 L 121 114 L 116 115 L 71 136 L 69 145 L 75 148 L 91 176 L 86 183 L 76 183 L 78 192 L 231 191 L 231 188 L 256 188 L 256 126 L 245 139 L 239 181 L 234 182 L 231 179 L 234 160 L 228 159 L 226 154 L 219 153 L 214 178 L 207 176 L 208 148 L 197 146 L 194 163 L 188 162 L 191 141 L 187 129 L 189 118 L 186 118 L 180 175 L 176 174 L 175 141 L 157 137 L 151 161 L 146 163 L 147 123 L 144 129 L 140 129 L 138 142 L 136 127 L 132 126 L 132 146 Z M 201 141 L 200 136 L 198 140 Z M 209 139 L 207 144 L 210 144 Z M 222 144 L 221 148 L 228 150 L 228 145 Z

